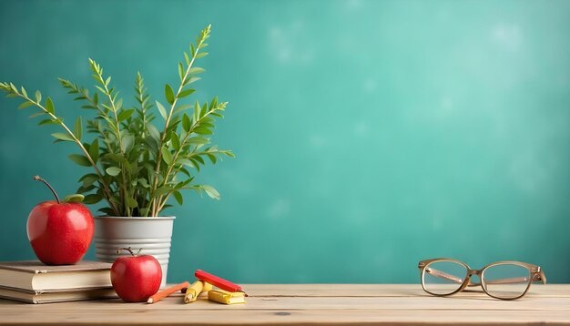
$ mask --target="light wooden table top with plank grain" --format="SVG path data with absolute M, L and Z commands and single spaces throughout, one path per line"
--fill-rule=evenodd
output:
M 0 300 L 0 324 L 567 324 L 570 284 L 533 284 L 518 301 L 470 291 L 437 298 L 419 284 L 249 284 L 248 303 L 182 295 L 154 304 L 120 300 L 25 304 Z

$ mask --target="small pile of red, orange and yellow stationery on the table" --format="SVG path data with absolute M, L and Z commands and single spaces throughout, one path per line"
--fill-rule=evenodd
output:
M 150 298 L 148 303 L 155 303 L 160 301 L 168 295 L 182 290 L 184 294 L 184 302 L 190 303 L 198 299 L 200 293 L 208 293 L 208 300 L 219 302 L 223 304 L 236 304 L 246 303 L 245 297 L 248 295 L 241 289 L 238 284 L 234 284 L 229 280 L 224 280 L 218 276 L 212 275 L 203 270 L 196 270 L 196 280 L 190 284 L 188 281 L 169 287 L 165 290 L 160 290 Z M 216 286 L 219 289 L 214 290 Z

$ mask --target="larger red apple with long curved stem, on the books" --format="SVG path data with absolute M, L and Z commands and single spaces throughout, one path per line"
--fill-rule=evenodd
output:
M 93 217 L 85 205 L 61 202 L 56 191 L 38 176 L 56 201 L 36 205 L 27 218 L 27 238 L 39 260 L 47 265 L 69 265 L 81 260 L 93 239 Z

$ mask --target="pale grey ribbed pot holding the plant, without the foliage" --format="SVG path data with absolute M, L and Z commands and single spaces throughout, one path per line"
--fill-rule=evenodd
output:
M 170 240 L 175 217 L 164 218 L 122 218 L 96 217 L 95 219 L 95 254 L 98 261 L 114 262 L 117 249 L 131 247 L 142 248 L 140 254 L 154 256 L 162 267 L 163 288 L 167 283 Z

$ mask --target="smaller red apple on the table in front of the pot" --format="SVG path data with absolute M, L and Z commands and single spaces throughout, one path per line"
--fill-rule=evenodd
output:
M 129 248 L 119 248 L 130 252 L 121 256 L 111 266 L 111 284 L 117 295 L 126 302 L 146 302 L 157 293 L 162 281 L 162 268 L 156 258 L 150 255 L 137 255 Z

